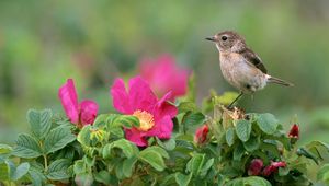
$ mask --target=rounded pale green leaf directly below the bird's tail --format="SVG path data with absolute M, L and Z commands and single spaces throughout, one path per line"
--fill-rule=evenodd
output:
M 260 114 L 257 124 L 259 128 L 268 135 L 273 135 L 279 125 L 276 118 L 270 113 Z

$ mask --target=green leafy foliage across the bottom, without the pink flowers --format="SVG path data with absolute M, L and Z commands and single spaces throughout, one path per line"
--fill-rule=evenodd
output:
M 32 109 L 27 113 L 32 135 L 20 135 L 14 147 L 0 144 L 0 178 L 15 184 L 86 186 L 310 184 L 307 168 L 313 162 L 329 160 L 328 144 L 313 141 L 297 148 L 296 139 L 287 137 L 272 114 L 245 114 L 223 106 L 234 98 L 230 95 L 214 94 L 207 107 L 214 116 L 197 109 L 190 102 L 192 95 L 185 97 L 178 103 L 172 137 L 150 137 L 147 147 L 125 139 L 126 128 L 139 127 L 139 119 L 132 115 L 101 114 L 93 125 L 78 129 L 49 109 Z M 209 131 L 194 136 L 204 124 Z M 206 141 L 198 144 L 195 138 Z M 250 175 L 254 159 L 263 166 Z M 265 174 L 275 163 L 285 165 Z M 327 165 L 320 168 L 319 182 L 328 183 L 328 170 Z

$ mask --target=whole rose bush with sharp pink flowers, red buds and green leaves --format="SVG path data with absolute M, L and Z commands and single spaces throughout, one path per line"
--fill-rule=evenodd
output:
M 180 72 L 170 72 L 169 77 L 175 77 L 171 73 Z M 127 85 L 116 79 L 110 92 L 117 113 L 104 114 L 98 114 L 93 101 L 79 104 L 73 81 L 69 79 L 58 93 L 66 115 L 31 109 L 27 112 L 31 132 L 20 135 L 13 147 L 0 144 L 1 183 L 162 186 L 328 183 L 329 165 L 320 165 L 328 161 L 328 144 L 313 141 L 297 147 L 300 138 L 297 124 L 285 131 L 272 114 L 227 109 L 236 93 L 212 92 L 198 107 L 193 75 L 190 82 L 180 81 L 186 92 L 175 93 L 171 88 L 177 85 L 168 85 L 158 90 L 159 98 L 152 88 L 160 86 L 162 81 L 173 81 L 169 77 L 161 81 L 135 77 Z M 317 178 L 307 171 L 310 166 L 319 168 Z

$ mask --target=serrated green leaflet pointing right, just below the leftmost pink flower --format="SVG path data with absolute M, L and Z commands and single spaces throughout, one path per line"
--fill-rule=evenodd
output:
M 63 149 L 68 143 L 75 141 L 75 139 L 76 136 L 71 133 L 70 127 L 56 127 L 45 138 L 45 153 L 48 154 Z

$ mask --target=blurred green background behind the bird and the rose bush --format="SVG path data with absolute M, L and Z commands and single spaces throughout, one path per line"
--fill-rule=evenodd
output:
M 329 142 L 329 1 L 0 1 L 0 141 L 26 129 L 29 108 L 63 112 L 58 88 L 73 78 L 80 98 L 112 111 L 115 77 L 137 73 L 143 57 L 173 55 L 194 69 L 197 96 L 234 90 L 206 36 L 234 30 L 271 74 L 294 88 L 268 86 L 239 103 L 270 112 L 288 128 L 297 115 L 302 141 Z

